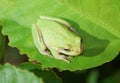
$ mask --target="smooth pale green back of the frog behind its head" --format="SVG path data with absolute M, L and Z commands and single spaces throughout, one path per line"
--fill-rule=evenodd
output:
M 75 36 L 75 34 L 71 32 L 69 28 L 55 21 L 42 20 L 42 23 L 40 23 L 39 26 L 42 34 L 47 39 L 59 40 L 61 38 L 68 39 L 69 37 Z

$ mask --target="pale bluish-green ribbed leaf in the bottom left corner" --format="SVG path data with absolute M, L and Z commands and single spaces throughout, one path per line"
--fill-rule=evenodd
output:
M 43 83 L 33 73 L 6 64 L 0 65 L 0 83 Z

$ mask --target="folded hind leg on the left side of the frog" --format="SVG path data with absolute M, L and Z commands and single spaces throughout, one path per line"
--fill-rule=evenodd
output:
M 43 55 L 51 56 L 50 51 L 47 49 L 47 46 L 44 43 L 42 33 L 36 24 L 32 25 L 32 36 L 33 36 L 34 44 L 39 50 L 39 52 Z

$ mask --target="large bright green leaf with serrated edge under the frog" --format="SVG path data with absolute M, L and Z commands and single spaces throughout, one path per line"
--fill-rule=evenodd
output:
M 39 61 L 43 67 L 83 70 L 102 65 L 118 55 L 119 8 L 119 0 L 1 0 L 0 19 L 9 45 L 20 49 L 30 60 Z M 83 39 L 83 54 L 71 59 L 70 64 L 41 55 L 31 35 L 31 25 L 40 15 L 68 20 Z

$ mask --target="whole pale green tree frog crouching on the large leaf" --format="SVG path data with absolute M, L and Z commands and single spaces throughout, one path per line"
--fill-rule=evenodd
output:
M 41 54 L 69 62 L 67 58 L 82 53 L 81 38 L 72 30 L 66 20 L 40 16 L 32 25 L 33 41 Z

